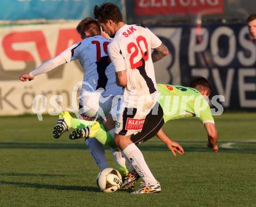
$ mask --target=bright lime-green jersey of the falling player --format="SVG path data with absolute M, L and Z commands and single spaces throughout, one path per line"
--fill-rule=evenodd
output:
M 165 122 L 196 116 L 203 124 L 206 122 L 214 124 L 209 104 L 198 90 L 179 85 L 157 84 L 157 86 L 158 102 L 163 109 Z

